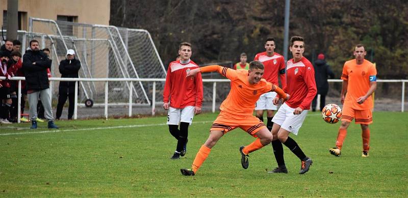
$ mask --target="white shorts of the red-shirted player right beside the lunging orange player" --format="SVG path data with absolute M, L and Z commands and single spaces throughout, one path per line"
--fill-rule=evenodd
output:
M 303 110 L 299 115 L 294 115 L 294 110 L 294 108 L 291 108 L 284 103 L 281 107 L 279 107 L 279 110 L 276 112 L 275 116 L 273 116 L 272 122 L 297 135 L 297 132 L 302 126 L 306 115 L 308 115 L 308 110 Z

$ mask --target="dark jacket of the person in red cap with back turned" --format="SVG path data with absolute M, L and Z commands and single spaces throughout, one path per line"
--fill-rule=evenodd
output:
M 316 60 L 314 68 L 317 94 L 327 95 L 328 92 L 327 77 L 334 78 L 335 74 L 333 73 L 333 71 L 331 71 L 330 66 L 327 65 L 326 61 L 324 60 L 320 59 Z

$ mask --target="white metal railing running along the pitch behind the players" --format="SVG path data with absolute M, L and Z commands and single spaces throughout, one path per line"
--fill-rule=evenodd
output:
M 0 80 L 6 79 L 5 77 L 0 77 Z M 111 81 L 125 81 L 125 82 L 153 82 L 152 86 L 152 103 L 151 103 L 151 115 L 155 115 L 155 107 L 156 107 L 156 82 L 164 82 L 166 79 L 164 78 L 57 78 L 57 77 L 50 77 L 48 78 L 51 81 L 75 81 L 75 99 L 74 99 L 74 114 L 73 119 L 77 120 L 77 112 L 78 112 L 78 81 L 96 81 L 96 82 L 105 82 L 105 118 L 108 119 L 108 83 Z M 21 80 L 25 80 L 25 77 L 12 77 L 11 80 L 18 81 L 18 116 L 17 120 L 18 123 L 20 122 L 20 112 L 21 112 Z M 215 98 L 216 98 L 216 88 L 217 82 L 229 82 L 229 79 L 202 79 L 203 82 L 213 82 L 213 99 L 212 99 L 212 112 L 215 112 Z M 329 79 L 329 82 L 342 82 L 340 79 Z M 404 112 L 404 93 L 405 93 L 405 82 L 408 80 L 380 80 L 378 79 L 377 82 L 402 82 L 402 91 L 401 91 L 401 112 Z M 130 83 L 131 86 L 129 87 L 129 117 L 132 116 L 132 106 L 133 106 L 133 83 Z

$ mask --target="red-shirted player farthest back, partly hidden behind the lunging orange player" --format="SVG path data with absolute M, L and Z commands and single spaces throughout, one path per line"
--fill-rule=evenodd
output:
M 260 61 L 265 67 L 265 73 L 263 78 L 268 82 L 272 82 L 278 86 L 278 76 L 281 78 L 281 87 L 286 86 L 285 79 L 285 59 L 281 54 L 276 53 L 275 50 L 275 39 L 269 37 L 265 41 L 265 51 L 258 53 L 254 61 Z M 266 127 L 272 129 L 272 118 L 274 110 L 277 106 L 273 104 L 272 100 L 276 96 L 275 92 L 268 92 L 263 94 L 256 103 L 256 116 L 263 122 L 264 121 L 264 110 L 266 110 L 267 123 Z

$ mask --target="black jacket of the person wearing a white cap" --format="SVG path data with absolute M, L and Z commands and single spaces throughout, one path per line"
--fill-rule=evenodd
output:
M 62 78 L 78 78 L 78 71 L 81 68 L 81 62 L 77 59 L 72 60 L 62 60 L 60 62 L 60 73 Z M 74 93 L 75 92 L 75 82 L 72 81 L 61 81 L 59 87 L 59 93 Z

